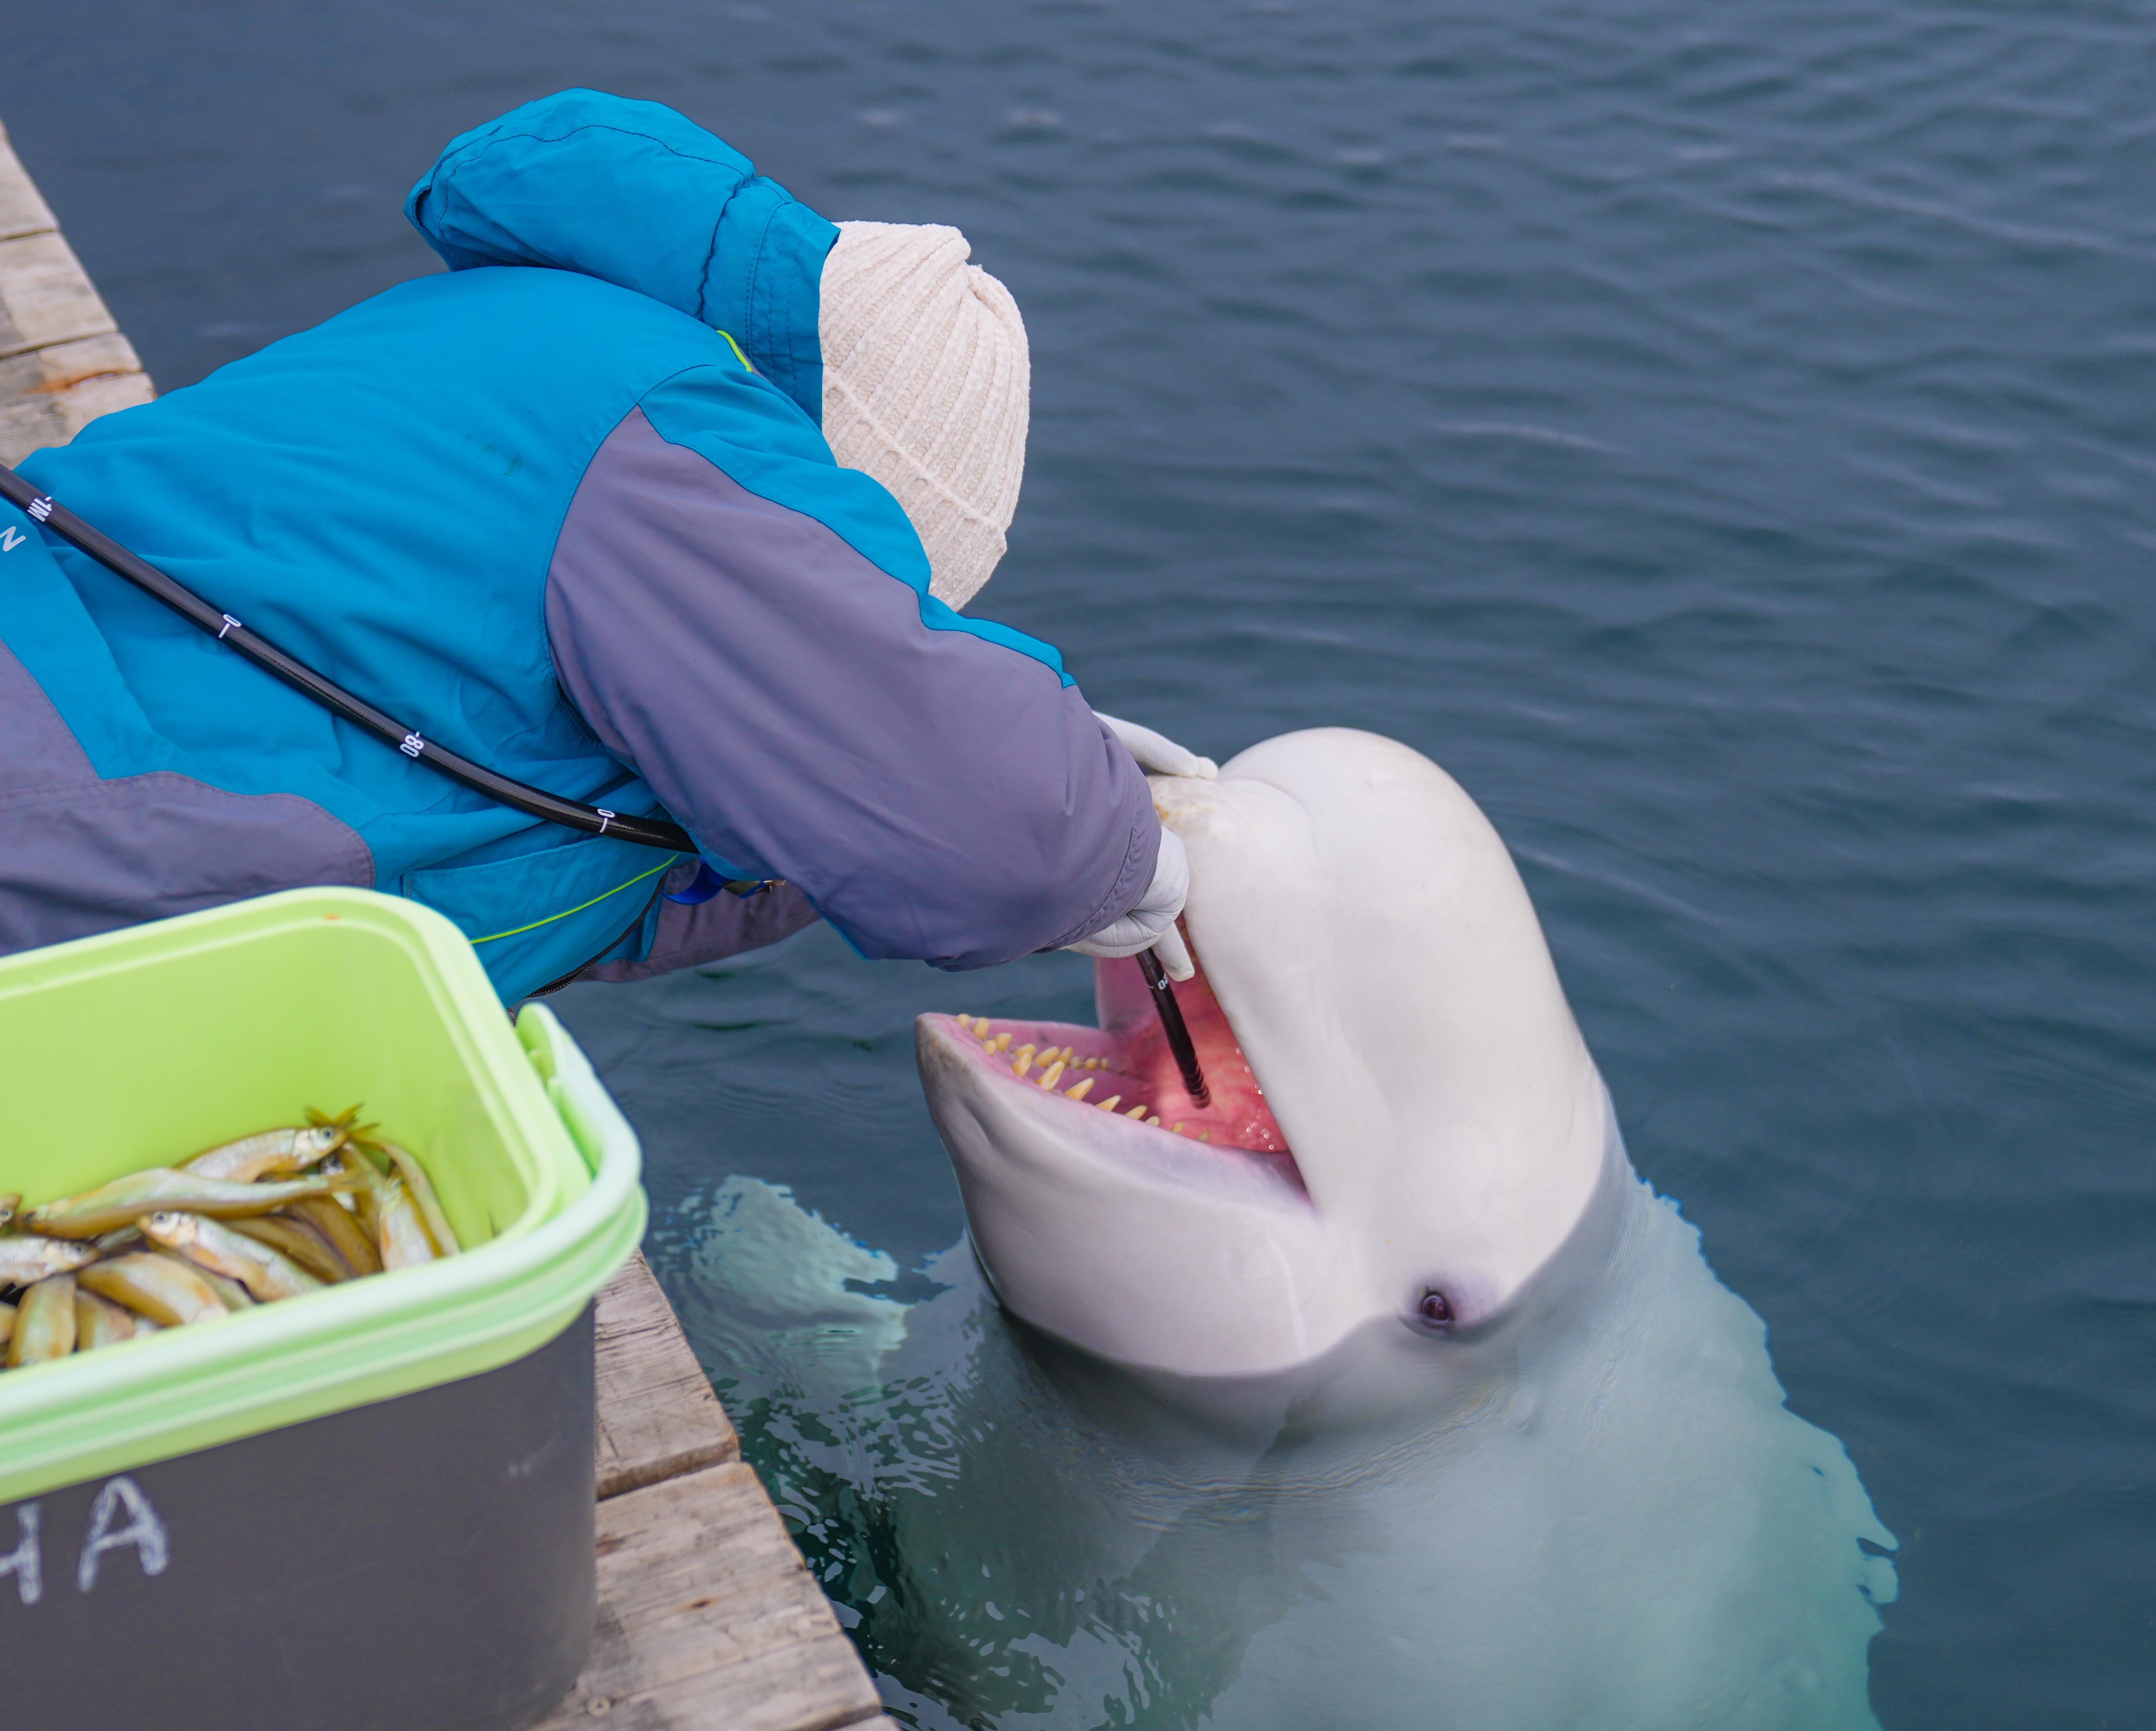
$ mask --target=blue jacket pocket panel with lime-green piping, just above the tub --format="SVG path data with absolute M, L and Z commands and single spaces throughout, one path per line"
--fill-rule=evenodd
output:
M 405 873 L 403 892 L 455 920 L 505 1005 L 597 961 L 649 912 L 681 856 L 610 836 Z

